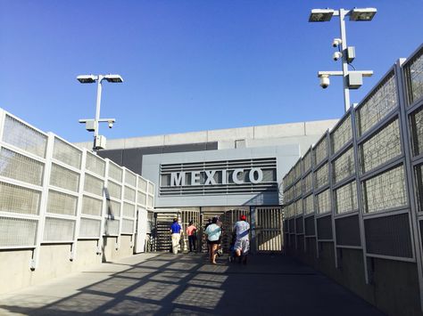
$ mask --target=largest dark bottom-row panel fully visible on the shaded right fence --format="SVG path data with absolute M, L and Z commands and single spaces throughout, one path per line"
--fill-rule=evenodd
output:
M 412 257 L 409 215 L 390 215 L 364 220 L 368 254 Z

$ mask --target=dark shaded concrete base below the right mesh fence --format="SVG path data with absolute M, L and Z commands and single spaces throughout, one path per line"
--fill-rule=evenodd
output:
M 371 258 L 369 260 L 371 280 L 366 284 L 361 249 L 338 249 L 339 268 L 336 269 L 333 242 L 319 242 L 319 250 L 314 238 L 306 239 L 305 249 L 295 248 L 294 243 L 291 245 L 286 242 L 286 255 L 292 255 L 311 265 L 370 304 L 374 304 L 387 315 L 423 315 L 420 310 L 416 263 Z

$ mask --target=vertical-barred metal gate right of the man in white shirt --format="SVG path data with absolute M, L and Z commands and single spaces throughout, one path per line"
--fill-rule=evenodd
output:
M 257 252 L 282 251 L 282 208 L 255 208 L 255 236 Z

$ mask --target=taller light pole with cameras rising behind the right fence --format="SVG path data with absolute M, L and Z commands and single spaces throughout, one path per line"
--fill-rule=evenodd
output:
M 332 46 L 341 49 L 334 53 L 334 61 L 342 59 L 342 71 L 319 71 L 320 86 L 324 89 L 330 84 L 330 76 L 342 76 L 344 83 L 344 104 L 345 112 L 350 109 L 350 89 L 358 89 L 362 85 L 362 77 L 370 77 L 373 75 L 371 70 L 349 71 L 348 65 L 355 58 L 355 49 L 353 46 L 346 45 L 345 17 L 349 16 L 352 21 L 369 21 L 372 20 L 377 12 L 375 8 L 354 8 L 352 10 L 333 10 L 333 9 L 313 9 L 311 10 L 309 22 L 328 22 L 332 16 L 339 17 L 339 26 L 341 30 L 341 38 L 335 38 Z

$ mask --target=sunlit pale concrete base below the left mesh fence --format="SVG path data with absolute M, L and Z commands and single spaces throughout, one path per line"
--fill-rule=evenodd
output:
M 115 238 L 105 239 L 107 239 L 107 245 L 104 247 L 106 261 L 133 254 L 131 236 L 121 236 L 118 250 L 114 247 Z M 93 268 L 101 264 L 103 260 L 102 255 L 96 254 L 96 250 L 96 240 L 78 240 L 76 257 L 71 261 L 71 244 L 42 245 L 39 264 L 34 271 L 29 269 L 29 260 L 32 258 L 31 249 L 1 250 L 0 294 Z

